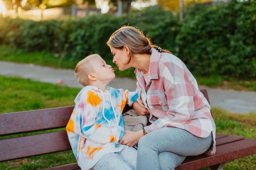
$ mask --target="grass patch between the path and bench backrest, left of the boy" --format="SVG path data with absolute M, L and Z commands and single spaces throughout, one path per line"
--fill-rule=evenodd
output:
M 79 88 L 0 76 L 0 113 L 74 105 Z

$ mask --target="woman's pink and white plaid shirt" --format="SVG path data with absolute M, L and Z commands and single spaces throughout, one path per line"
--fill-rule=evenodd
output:
M 145 83 L 141 70 L 136 69 L 135 73 L 137 91 L 149 109 L 152 123 L 145 130 L 150 133 L 170 126 L 198 137 L 207 137 L 213 132 L 213 145 L 206 153 L 214 154 L 216 128 L 211 107 L 185 64 L 170 53 L 160 53 L 152 48 L 149 84 Z

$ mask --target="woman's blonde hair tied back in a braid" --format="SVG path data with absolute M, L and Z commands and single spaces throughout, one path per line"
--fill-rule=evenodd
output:
M 151 40 L 146 37 L 142 31 L 131 26 L 123 26 L 116 30 L 109 37 L 107 45 L 116 49 L 122 49 L 124 46 L 128 46 L 130 49 L 130 55 L 145 53 L 151 54 L 152 47 L 157 49 L 157 46 L 153 45 Z M 167 50 L 161 50 L 161 52 L 171 53 Z M 128 63 L 129 62 L 130 60 Z

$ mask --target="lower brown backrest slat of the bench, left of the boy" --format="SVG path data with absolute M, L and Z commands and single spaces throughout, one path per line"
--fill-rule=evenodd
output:
M 66 131 L 0 140 L 0 161 L 70 150 Z

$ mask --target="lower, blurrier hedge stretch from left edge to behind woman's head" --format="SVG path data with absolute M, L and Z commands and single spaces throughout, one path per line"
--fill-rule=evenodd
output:
M 155 43 L 174 50 L 175 37 L 180 27 L 177 18 L 158 8 L 143 13 L 134 11 L 123 17 L 94 15 L 42 22 L 10 18 L 0 20 L 0 43 L 27 51 L 52 51 L 76 59 L 99 53 L 105 59 L 112 60 L 106 42 L 123 25 L 136 26 Z

